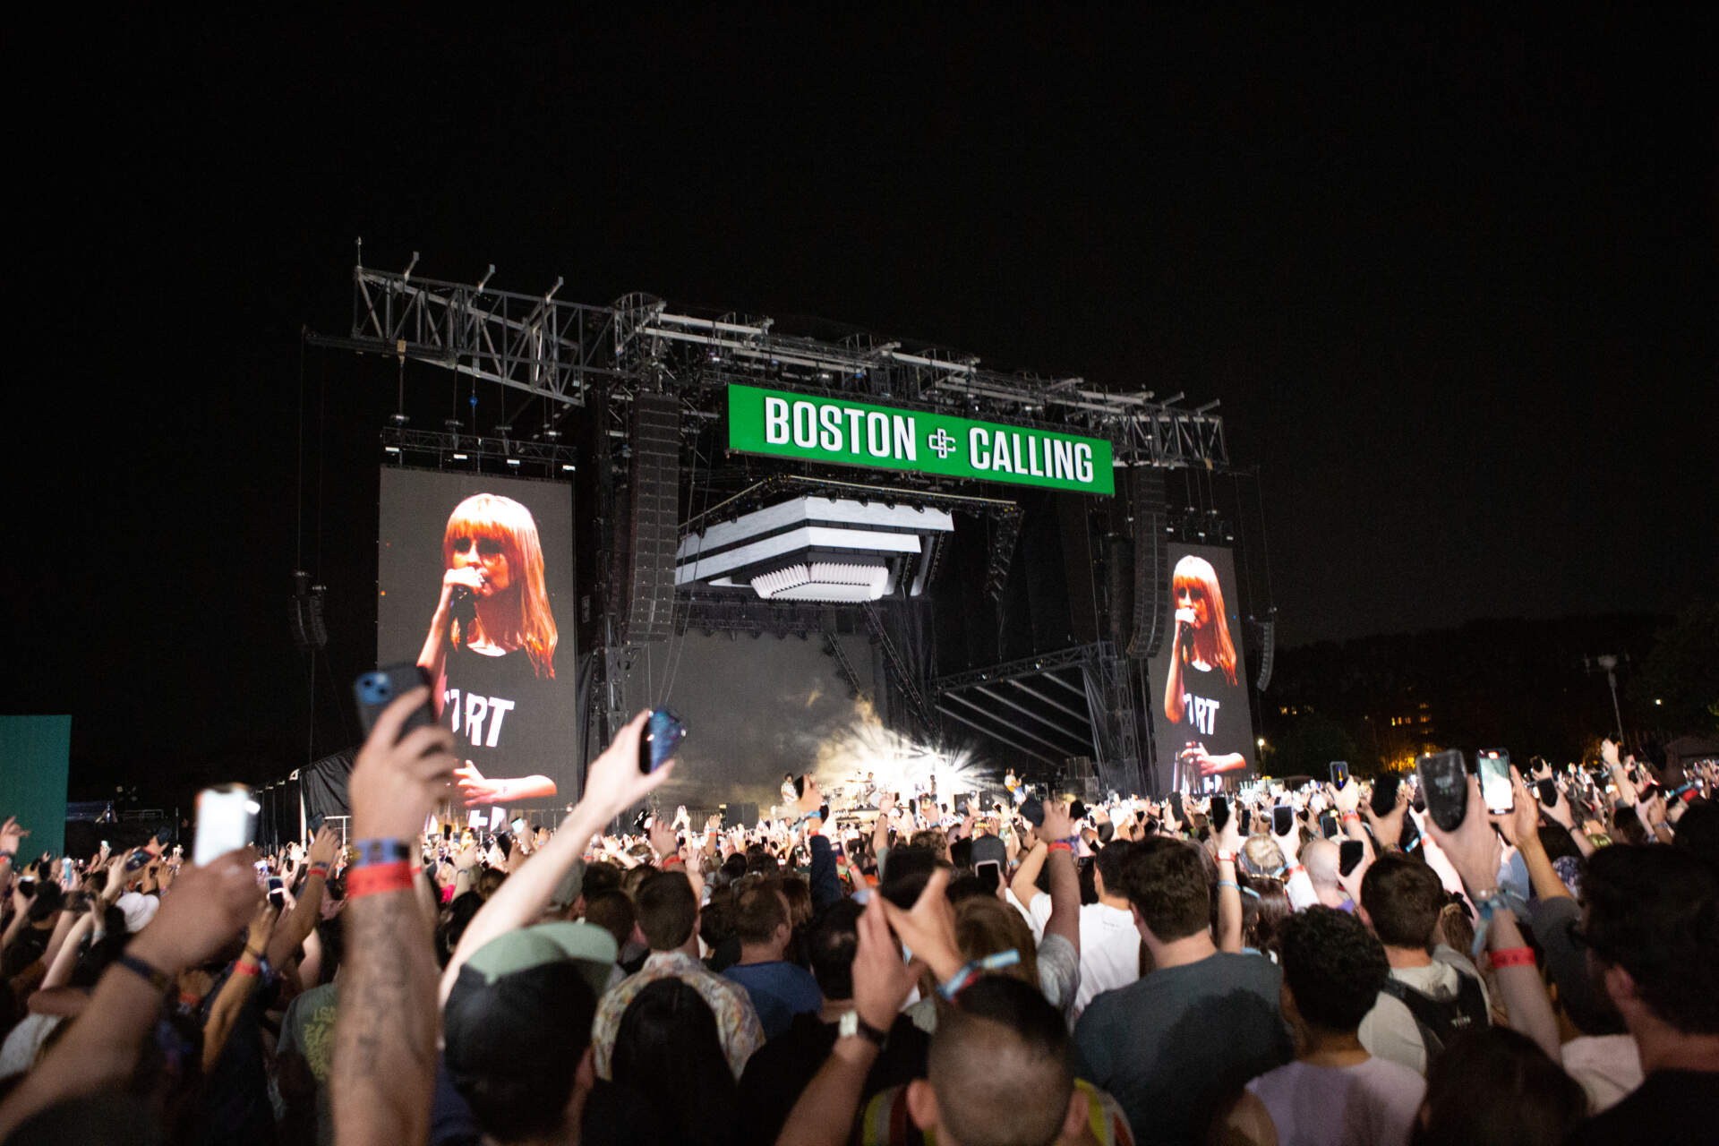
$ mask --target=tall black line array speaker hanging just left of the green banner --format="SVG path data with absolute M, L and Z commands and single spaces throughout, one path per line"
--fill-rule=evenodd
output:
M 681 400 L 638 393 L 627 433 L 627 612 L 622 639 L 665 641 L 674 632 L 674 552 L 681 531 Z

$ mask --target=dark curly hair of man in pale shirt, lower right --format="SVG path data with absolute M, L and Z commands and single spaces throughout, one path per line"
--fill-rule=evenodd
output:
M 1336 907 L 1313 905 L 1284 919 L 1277 952 L 1296 1010 L 1325 1031 L 1360 1027 L 1391 978 L 1379 936 Z

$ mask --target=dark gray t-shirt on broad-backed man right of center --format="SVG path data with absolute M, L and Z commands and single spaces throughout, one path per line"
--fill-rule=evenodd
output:
M 1093 998 L 1074 1027 L 1080 1077 L 1123 1105 L 1143 1143 L 1198 1143 L 1219 1105 L 1294 1053 L 1282 972 L 1219 952 Z

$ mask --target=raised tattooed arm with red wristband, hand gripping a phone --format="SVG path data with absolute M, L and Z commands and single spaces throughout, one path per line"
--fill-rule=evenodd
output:
M 459 761 L 447 728 L 431 725 L 401 737 L 406 716 L 428 699 L 428 689 L 413 689 L 376 718 L 349 782 L 354 838 L 413 840 L 452 782 Z M 430 917 L 411 883 L 370 893 L 347 888 L 347 955 L 330 1077 L 335 1139 L 423 1143 L 430 1136 L 437 1033 Z

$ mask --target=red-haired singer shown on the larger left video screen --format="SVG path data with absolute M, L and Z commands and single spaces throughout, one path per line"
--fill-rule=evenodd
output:
M 533 742 L 554 704 L 545 686 L 555 679 L 555 619 L 531 510 L 495 493 L 466 498 L 447 519 L 442 564 L 442 596 L 418 665 L 466 759 L 466 804 L 555 795 L 545 775 L 485 775 L 526 763 L 521 746 Z

